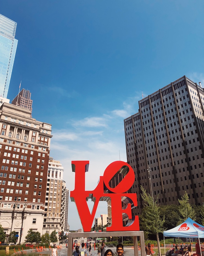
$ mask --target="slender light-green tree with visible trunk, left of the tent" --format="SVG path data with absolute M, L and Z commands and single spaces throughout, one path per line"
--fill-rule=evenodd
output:
M 154 201 L 150 194 L 147 194 L 146 190 L 142 186 L 141 190 L 141 197 L 144 200 L 144 208 L 142 209 L 142 213 L 140 215 L 142 227 L 144 231 L 156 235 L 158 252 L 161 256 L 159 233 L 161 233 L 164 230 L 163 224 L 165 220 L 164 217 L 163 219 L 160 217 L 160 207 L 157 204 L 159 194 L 157 195 L 157 198 Z

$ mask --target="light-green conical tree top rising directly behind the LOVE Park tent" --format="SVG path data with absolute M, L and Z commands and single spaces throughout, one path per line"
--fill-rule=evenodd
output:
M 180 204 L 180 206 L 178 208 L 178 211 L 180 213 L 180 218 L 179 218 L 177 225 L 184 222 L 188 217 L 190 217 L 192 220 L 195 220 L 196 214 L 195 214 L 193 207 L 189 203 L 189 198 L 188 198 L 188 194 L 186 191 L 185 191 L 185 194 L 183 195 L 183 197 L 181 197 L 181 200 L 178 199 L 178 202 Z

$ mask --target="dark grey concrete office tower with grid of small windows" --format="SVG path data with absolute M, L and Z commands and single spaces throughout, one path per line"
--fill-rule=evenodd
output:
M 159 204 L 178 204 L 188 194 L 191 204 L 203 203 L 204 90 L 186 76 L 139 101 L 139 112 L 124 120 L 128 163 L 135 172 L 132 193 L 141 189 Z

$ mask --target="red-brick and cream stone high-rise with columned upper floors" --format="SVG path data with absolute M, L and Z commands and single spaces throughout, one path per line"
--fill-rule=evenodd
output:
M 42 234 L 51 125 L 9 103 L 0 107 L 0 224 L 24 243 L 27 231 Z

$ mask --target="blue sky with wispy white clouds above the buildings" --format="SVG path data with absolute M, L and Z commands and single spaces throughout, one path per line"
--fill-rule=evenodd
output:
M 0 13 L 17 22 L 8 98 L 21 80 L 31 91 L 32 116 L 52 124 L 50 156 L 64 166 L 69 190 L 72 160 L 90 161 L 87 190 L 119 151 L 126 161 L 123 120 L 138 112 L 142 91 L 183 75 L 204 86 L 203 10 L 203 0 L 1 1 Z M 81 228 L 71 201 L 68 221 Z

